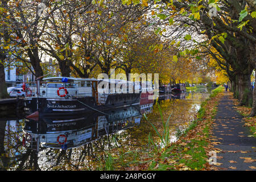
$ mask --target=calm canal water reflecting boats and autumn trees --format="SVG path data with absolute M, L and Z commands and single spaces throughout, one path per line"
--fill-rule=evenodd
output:
M 0 119 L 0 168 L 6 170 L 128 170 L 147 162 L 196 119 L 210 89 L 159 97 L 152 104 L 70 118 Z M 146 118 L 147 119 L 146 119 Z M 113 164 L 114 162 L 114 164 Z

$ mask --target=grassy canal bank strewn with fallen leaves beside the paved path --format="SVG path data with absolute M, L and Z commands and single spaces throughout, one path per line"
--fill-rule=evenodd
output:
M 210 97 L 201 104 L 197 119 L 154 160 L 144 166 L 146 170 L 210 170 L 209 152 L 213 150 L 214 138 L 210 138 L 224 88 L 212 90 Z

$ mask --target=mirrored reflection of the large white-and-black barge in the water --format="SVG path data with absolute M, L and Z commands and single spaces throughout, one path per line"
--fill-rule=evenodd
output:
M 42 147 L 68 149 L 78 147 L 105 135 L 117 133 L 141 123 L 139 106 L 95 112 L 80 117 L 25 120 L 23 146 L 40 151 Z

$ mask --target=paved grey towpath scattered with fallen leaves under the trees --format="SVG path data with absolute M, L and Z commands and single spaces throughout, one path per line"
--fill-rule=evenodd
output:
M 243 127 L 243 116 L 233 107 L 232 96 L 224 93 L 218 104 L 213 128 L 214 147 L 219 148 L 217 166 L 220 170 L 256 170 L 256 138 Z

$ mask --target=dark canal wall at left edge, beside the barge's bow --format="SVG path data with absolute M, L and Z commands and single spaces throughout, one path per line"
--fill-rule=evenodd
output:
M 0 99 L 0 118 L 16 116 L 23 113 L 23 98 L 3 98 Z

